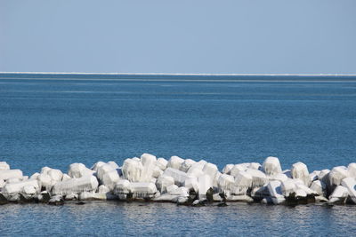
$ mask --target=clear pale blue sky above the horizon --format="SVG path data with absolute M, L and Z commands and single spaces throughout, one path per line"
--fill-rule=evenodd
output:
M 0 71 L 356 74 L 356 1 L 0 0 Z

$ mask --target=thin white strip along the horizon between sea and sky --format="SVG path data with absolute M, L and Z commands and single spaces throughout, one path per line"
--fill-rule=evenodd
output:
M 0 74 L 33 74 L 33 75 L 271 75 L 271 76 L 356 76 L 356 74 L 230 74 L 230 73 L 88 73 L 88 72 L 0 72 Z

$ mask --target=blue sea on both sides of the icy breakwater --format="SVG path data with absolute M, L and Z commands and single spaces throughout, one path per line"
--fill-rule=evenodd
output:
M 143 153 L 215 163 L 356 162 L 356 76 L 0 74 L 0 161 L 32 175 Z M 356 206 L 86 201 L 0 206 L 0 234 L 353 236 Z

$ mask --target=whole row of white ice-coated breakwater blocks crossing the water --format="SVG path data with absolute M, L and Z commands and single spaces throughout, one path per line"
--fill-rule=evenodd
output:
M 277 157 L 231 163 L 219 170 L 214 163 L 172 156 L 142 154 L 116 162 L 69 165 L 68 173 L 50 167 L 24 176 L 0 162 L 0 204 L 40 201 L 53 205 L 70 200 L 171 201 L 186 205 L 207 202 L 255 201 L 303 204 L 326 201 L 356 204 L 356 163 L 309 172 L 303 162 L 282 170 Z

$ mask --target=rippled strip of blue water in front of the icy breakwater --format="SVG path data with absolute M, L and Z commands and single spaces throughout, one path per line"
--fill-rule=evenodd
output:
M 230 203 L 192 208 L 172 203 L 88 201 L 61 207 L 0 207 L 2 235 L 344 235 L 356 231 L 354 206 L 295 208 Z M 342 230 L 342 232 L 340 232 Z

